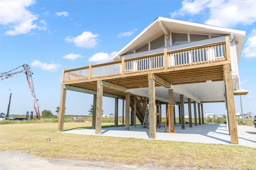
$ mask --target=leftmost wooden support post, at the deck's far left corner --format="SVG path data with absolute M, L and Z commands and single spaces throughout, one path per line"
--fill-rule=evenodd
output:
M 62 69 L 62 83 L 65 79 L 65 69 Z M 63 131 L 64 126 L 64 113 L 65 113 L 65 104 L 66 104 L 66 89 L 64 88 L 64 84 L 61 85 L 60 91 L 60 110 L 59 110 L 59 121 L 58 121 L 58 132 Z

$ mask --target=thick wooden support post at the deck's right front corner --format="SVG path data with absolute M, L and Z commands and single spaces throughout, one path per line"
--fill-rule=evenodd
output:
M 232 74 L 230 64 L 224 65 L 224 83 L 226 88 L 226 105 L 228 110 L 228 122 L 230 129 L 230 138 L 232 144 L 238 144 L 238 134 L 236 126 L 236 110 L 234 102 L 234 90 L 232 85 Z

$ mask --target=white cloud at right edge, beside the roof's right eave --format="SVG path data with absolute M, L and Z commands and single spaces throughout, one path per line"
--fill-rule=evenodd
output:
M 256 29 L 254 28 L 250 33 L 242 51 L 244 57 L 256 58 Z

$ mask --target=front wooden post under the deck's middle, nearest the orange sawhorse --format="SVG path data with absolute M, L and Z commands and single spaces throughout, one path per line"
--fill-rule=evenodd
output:
M 153 74 L 148 74 L 149 138 L 156 139 L 156 94 Z

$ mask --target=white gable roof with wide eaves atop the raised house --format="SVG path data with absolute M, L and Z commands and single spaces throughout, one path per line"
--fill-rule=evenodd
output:
M 178 33 L 194 33 L 194 34 L 206 34 L 206 35 L 230 35 L 234 34 L 234 39 L 237 41 L 237 57 L 240 58 L 242 46 L 244 43 L 245 31 L 236 29 L 229 29 L 224 27 L 217 27 L 212 25 L 206 25 L 202 23 L 194 23 L 189 21 L 176 20 L 172 18 L 158 17 L 148 27 L 146 27 L 141 33 L 139 33 L 132 41 L 118 51 L 112 59 L 114 61 L 120 60 L 120 56 L 125 55 L 132 50 L 152 41 L 160 35 L 169 32 Z

